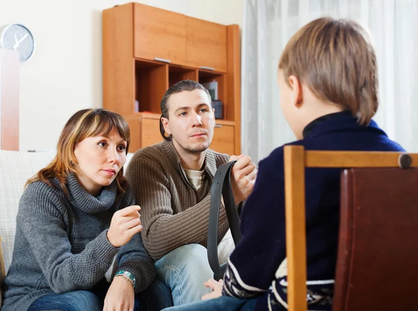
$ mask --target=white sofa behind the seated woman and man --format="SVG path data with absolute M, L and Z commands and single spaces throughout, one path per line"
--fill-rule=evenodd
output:
M 55 153 L 23 152 L 0 150 L 0 281 L 8 271 L 13 255 L 16 215 L 24 184 L 39 169 L 45 167 L 54 158 Z M 125 169 L 132 158 L 127 156 Z M 218 246 L 219 262 L 225 262 L 233 248 L 231 232 L 228 232 Z M 111 280 L 112 269 L 106 277 Z M 0 293 L 1 306 L 1 293 Z

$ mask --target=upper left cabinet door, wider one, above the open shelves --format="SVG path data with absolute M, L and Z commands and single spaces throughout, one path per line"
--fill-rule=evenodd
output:
M 134 4 L 134 56 L 185 64 L 185 15 Z

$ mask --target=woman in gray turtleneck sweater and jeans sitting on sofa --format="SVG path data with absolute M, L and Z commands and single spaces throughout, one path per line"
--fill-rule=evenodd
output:
M 129 143 L 127 123 L 114 112 L 84 109 L 68 120 L 56 157 L 29 179 L 20 200 L 2 310 L 171 305 L 169 289 L 153 282 L 141 208 L 123 177 Z M 109 285 L 104 275 L 115 256 Z

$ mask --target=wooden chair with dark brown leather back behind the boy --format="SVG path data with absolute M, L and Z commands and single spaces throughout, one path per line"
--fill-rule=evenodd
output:
M 288 310 L 307 310 L 305 167 L 344 168 L 333 310 L 418 310 L 418 154 L 285 146 L 284 165 Z

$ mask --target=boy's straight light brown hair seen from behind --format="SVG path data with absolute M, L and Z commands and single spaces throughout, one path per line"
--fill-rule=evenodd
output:
M 353 20 L 322 17 L 299 29 L 279 61 L 320 100 L 343 106 L 369 124 L 378 109 L 378 68 L 369 33 Z

